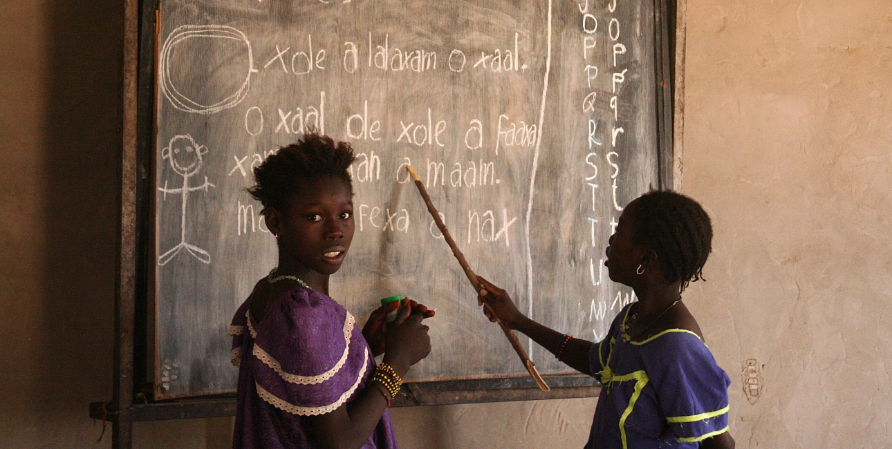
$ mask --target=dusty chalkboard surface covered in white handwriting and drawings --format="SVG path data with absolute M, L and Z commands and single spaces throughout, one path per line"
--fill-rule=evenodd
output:
M 244 188 L 310 128 L 351 142 L 356 235 L 333 298 L 436 309 L 409 380 L 525 376 L 427 216 L 534 319 L 600 339 L 630 290 L 602 268 L 658 185 L 652 2 L 162 0 L 152 351 L 157 398 L 233 391 L 227 327 L 276 265 Z M 521 336 L 524 342 L 529 340 Z M 543 374 L 569 372 L 530 344 Z

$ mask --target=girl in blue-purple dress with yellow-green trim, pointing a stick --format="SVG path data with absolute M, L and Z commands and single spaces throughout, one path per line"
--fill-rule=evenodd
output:
M 575 370 L 603 385 L 586 449 L 733 448 L 731 379 L 703 342 L 681 291 L 702 279 L 712 249 L 709 216 L 675 192 L 649 192 L 620 216 L 607 246 L 610 279 L 638 301 L 616 316 L 600 342 L 561 335 L 521 314 L 505 290 L 481 279 L 480 298 Z

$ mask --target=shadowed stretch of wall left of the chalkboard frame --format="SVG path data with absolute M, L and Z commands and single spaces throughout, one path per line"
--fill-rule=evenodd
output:
M 119 15 L 0 2 L 3 447 L 91 447 L 111 393 Z

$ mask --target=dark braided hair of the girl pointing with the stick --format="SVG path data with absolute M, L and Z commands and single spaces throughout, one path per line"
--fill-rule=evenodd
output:
M 635 200 L 634 238 L 657 252 L 665 282 L 681 290 L 704 280 L 703 265 L 713 248 L 713 226 L 696 200 L 670 191 L 651 191 Z

